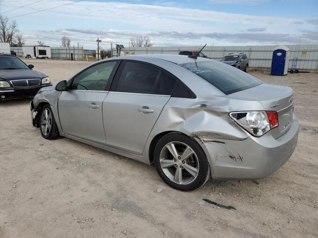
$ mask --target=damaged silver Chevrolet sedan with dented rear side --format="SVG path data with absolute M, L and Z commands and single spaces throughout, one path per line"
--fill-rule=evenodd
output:
M 31 102 L 46 139 L 61 136 L 154 165 L 188 191 L 214 179 L 259 179 L 292 155 L 293 90 L 206 58 L 98 61 Z

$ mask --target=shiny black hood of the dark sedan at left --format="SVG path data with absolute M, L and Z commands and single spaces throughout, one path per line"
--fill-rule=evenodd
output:
M 0 69 L 0 79 L 15 80 L 28 78 L 45 78 L 47 75 L 32 69 Z

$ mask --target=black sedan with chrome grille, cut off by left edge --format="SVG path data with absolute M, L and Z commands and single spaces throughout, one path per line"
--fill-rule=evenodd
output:
M 12 55 L 0 54 L 0 101 L 33 97 L 40 88 L 52 86 L 50 78 Z

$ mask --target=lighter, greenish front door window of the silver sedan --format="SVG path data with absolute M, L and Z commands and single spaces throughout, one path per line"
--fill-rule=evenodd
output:
M 116 61 L 103 62 L 81 72 L 73 79 L 73 90 L 106 91 L 109 76 Z

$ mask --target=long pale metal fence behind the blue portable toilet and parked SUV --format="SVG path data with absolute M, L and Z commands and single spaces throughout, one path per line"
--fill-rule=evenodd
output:
M 292 67 L 294 57 L 298 57 L 297 68 L 300 70 L 318 70 L 318 45 L 286 45 L 291 52 L 288 67 Z M 270 68 L 273 56 L 273 46 L 207 46 L 202 53 L 214 60 L 222 60 L 229 53 L 243 52 L 249 58 L 249 67 Z M 180 51 L 198 51 L 201 46 L 193 47 L 139 47 L 125 48 L 123 54 L 173 54 L 177 55 Z M 116 56 L 116 48 L 112 49 L 113 56 Z

